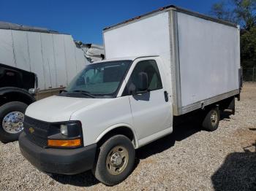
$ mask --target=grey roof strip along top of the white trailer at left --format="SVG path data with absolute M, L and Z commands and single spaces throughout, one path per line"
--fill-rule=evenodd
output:
M 40 33 L 48 33 L 48 34 L 59 34 L 58 31 L 52 31 L 48 28 L 41 28 L 35 26 L 23 26 L 20 24 L 15 23 L 7 23 L 0 21 L 0 29 L 9 29 L 9 30 L 16 30 L 16 31 L 33 31 L 33 32 L 40 32 Z

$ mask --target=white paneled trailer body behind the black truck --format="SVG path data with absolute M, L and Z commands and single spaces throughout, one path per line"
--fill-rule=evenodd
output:
M 0 63 L 37 74 L 40 91 L 66 87 L 89 64 L 69 34 L 0 24 Z

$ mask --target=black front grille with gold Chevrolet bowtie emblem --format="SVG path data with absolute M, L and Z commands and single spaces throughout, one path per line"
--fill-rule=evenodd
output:
M 25 116 L 23 127 L 27 138 L 39 147 L 47 147 L 50 123 Z

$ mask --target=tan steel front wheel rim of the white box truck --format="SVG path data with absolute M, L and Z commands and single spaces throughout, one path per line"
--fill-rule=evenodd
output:
M 108 172 L 112 175 L 121 174 L 127 167 L 129 154 L 126 148 L 118 146 L 114 147 L 108 153 L 106 166 Z

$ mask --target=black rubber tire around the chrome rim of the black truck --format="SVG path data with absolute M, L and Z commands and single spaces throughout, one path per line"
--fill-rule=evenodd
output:
M 21 114 L 25 113 L 27 107 L 27 104 L 24 104 L 20 101 L 12 101 L 0 106 L 0 141 L 3 143 L 18 141 L 18 137 L 20 136 L 22 130 L 20 129 L 18 133 L 8 133 L 7 130 L 4 130 L 3 127 L 4 117 L 7 117 L 8 114 L 11 114 L 12 112 L 16 112 L 20 116 L 19 120 L 21 120 Z M 21 126 L 23 127 L 23 124 L 19 125 L 19 127 Z

